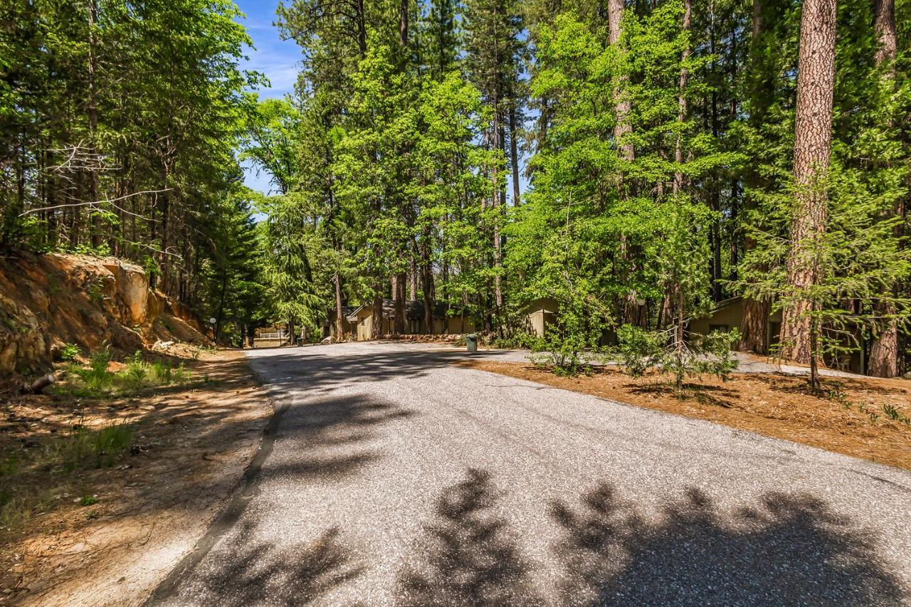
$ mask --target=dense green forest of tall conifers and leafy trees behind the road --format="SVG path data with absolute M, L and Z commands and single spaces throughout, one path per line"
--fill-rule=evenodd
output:
M 549 298 L 551 349 L 680 345 L 736 296 L 742 350 L 905 370 L 906 0 L 287 0 L 264 100 L 230 2 L 2 13 L 0 243 L 140 262 L 231 339 L 391 300 L 520 342 Z

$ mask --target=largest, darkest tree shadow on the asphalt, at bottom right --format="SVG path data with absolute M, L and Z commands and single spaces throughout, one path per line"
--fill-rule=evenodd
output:
M 646 518 L 605 484 L 556 502 L 572 604 L 897 604 L 873 538 L 809 496 L 768 493 L 725 517 L 698 489 Z

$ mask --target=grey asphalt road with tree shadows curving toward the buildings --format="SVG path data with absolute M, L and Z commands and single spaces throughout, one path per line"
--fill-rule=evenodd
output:
M 435 346 L 250 356 L 274 443 L 153 603 L 911 604 L 905 471 Z

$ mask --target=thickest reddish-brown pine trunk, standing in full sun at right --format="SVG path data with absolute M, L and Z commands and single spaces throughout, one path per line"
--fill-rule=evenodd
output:
M 835 0 L 806 0 L 801 15 L 794 116 L 795 201 L 786 266 L 787 289 L 793 295 L 782 319 L 782 355 L 800 363 L 809 363 L 818 355 L 814 345 L 819 324 L 813 318 L 818 306 L 809 292 L 821 278 L 819 248 L 828 218 L 835 15 Z

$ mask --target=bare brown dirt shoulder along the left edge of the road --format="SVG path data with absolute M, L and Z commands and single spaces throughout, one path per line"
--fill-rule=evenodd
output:
M 241 478 L 272 411 L 241 352 L 192 366 L 208 381 L 82 406 L 84 418 L 136 424 L 132 455 L 77 473 L 79 494 L 54 496 L 56 506 L 24 534 L 5 538 L 0 604 L 139 604 L 192 549 Z M 13 403 L 7 418 L 49 426 L 60 405 Z M 97 503 L 81 506 L 85 491 Z

